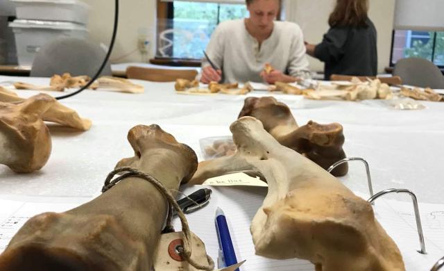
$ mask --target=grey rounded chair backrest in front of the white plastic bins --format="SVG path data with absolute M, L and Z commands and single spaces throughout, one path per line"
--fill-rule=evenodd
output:
M 71 76 L 94 76 L 105 59 L 99 45 L 78 38 L 60 38 L 44 45 L 34 58 L 31 76 L 51 77 L 69 72 Z M 106 63 L 101 76 L 112 75 Z

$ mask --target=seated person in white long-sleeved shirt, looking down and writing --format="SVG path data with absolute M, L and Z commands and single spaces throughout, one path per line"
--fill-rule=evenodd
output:
M 216 27 L 202 63 L 200 81 L 223 83 L 291 83 L 309 78 L 309 63 L 300 27 L 275 22 L 280 0 L 246 0 L 250 17 L 222 22 Z M 268 63 L 273 71 L 264 72 Z

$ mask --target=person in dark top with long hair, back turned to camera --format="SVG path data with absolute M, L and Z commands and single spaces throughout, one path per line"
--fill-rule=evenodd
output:
M 325 80 L 332 74 L 377 74 L 377 34 L 367 13 L 368 0 L 337 0 L 323 41 L 317 45 L 305 43 L 307 54 L 325 63 Z

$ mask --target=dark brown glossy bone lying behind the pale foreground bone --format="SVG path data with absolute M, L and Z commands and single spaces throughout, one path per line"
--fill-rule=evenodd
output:
M 285 147 L 307 156 L 325 170 L 345 158 L 343 128 L 339 123 L 318 124 L 309 121 L 298 126 L 290 108 L 274 97 L 248 97 L 239 117 L 255 117 L 264 124 L 264 129 Z M 343 176 L 348 172 L 348 164 L 336 167 L 332 174 Z

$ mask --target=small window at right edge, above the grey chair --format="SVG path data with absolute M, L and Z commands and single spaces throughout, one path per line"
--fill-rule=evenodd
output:
M 391 66 L 401 58 L 418 57 L 444 67 L 444 32 L 393 31 Z

